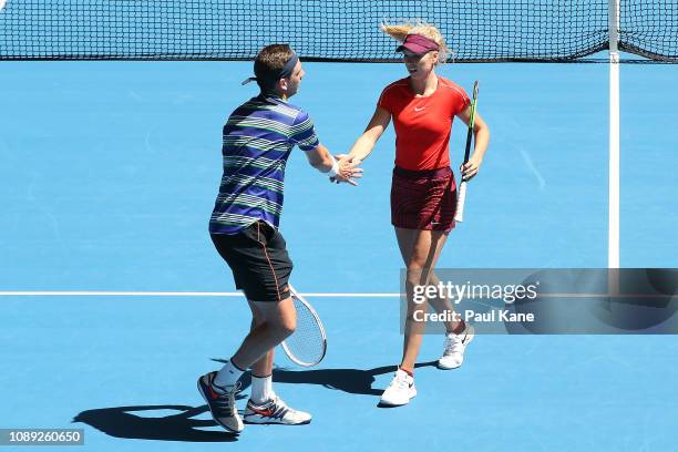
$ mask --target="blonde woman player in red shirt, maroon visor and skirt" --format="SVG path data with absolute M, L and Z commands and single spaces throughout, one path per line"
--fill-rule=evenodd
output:
M 396 167 L 391 185 L 391 223 L 407 268 L 408 317 L 404 328 L 402 361 L 393 380 L 381 397 L 383 405 L 402 405 L 417 396 L 414 362 L 425 326 L 414 321 L 414 312 L 427 305 L 413 302 L 413 287 L 439 282 L 433 271 L 454 227 L 456 184 L 450 168 L 450 136 L 454 117 L 469 124 L 471 101 L 456 84 L 435 73 L 445 61 L 448 49 L 441 32 L 424 22 L 382 25 L 382 31 L 402 44 L 409 75 L 389 84 L 379 97 L 377 110 L 364 133 L 353 144 L 353 162 L 367 157 L 389 122 L 396 127 Z M 490 140 L 490 130 L 475 114 L 475 146 L 462 177 L 477 174 Z M 452 311 L 446 299 L 430 300 L 439 312 Z M 421 318 L 421 317 L 418 317 Z M 463 320 L 445 323 L 441 369 L 461 366 L 464 349 L 473 339 L 473 328 Z

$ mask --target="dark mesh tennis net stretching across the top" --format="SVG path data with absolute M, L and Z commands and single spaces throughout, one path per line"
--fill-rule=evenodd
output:
M 678 62 L 678 2 L 620 0 L 619 49 Z M 7 0 L 3 60 L 398 60 L 382 22 L 436 24 L 458 62 L 579 61 L 608 47 L 607 0 Z

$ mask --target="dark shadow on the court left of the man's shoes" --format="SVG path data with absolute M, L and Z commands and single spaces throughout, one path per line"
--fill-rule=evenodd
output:
M 152 417 L 153 411 L 176 411 L 176 414 Z M 137 413 L 147 413 L 138 415 Z M 102 433 L 134 440 L 233 442 L 237 435 L 224 430 L 199 430 L 217 424 L 212 419 L 192 419 L 207 412 L 207 405 L 114 407 L 83 411 L 73 422 L 82 422 Z

